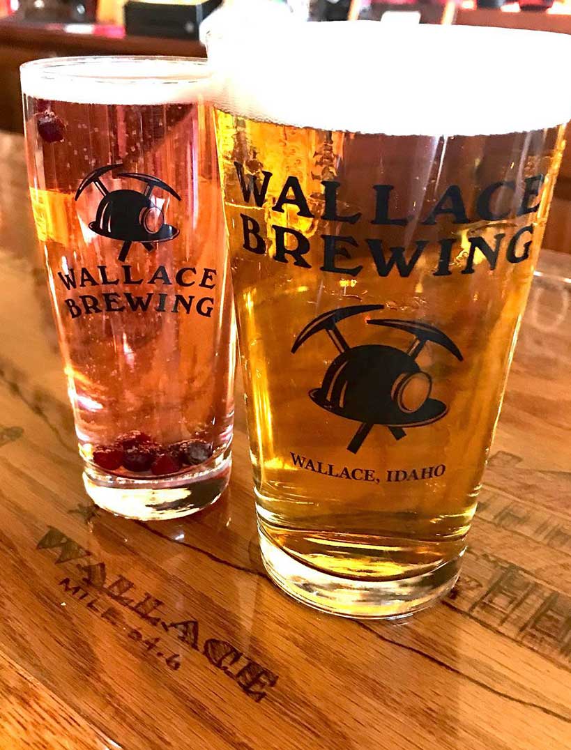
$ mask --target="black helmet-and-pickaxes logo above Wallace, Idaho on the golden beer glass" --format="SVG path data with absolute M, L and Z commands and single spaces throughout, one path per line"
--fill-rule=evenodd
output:
M 383 308 L 384 305 L 353 305 L 323 313 L 305 326 L 291 350 L 295 354 L 319 331 L 326 332 L 335 344 L 339 355 L 329 365 L 321 387 L 312 389 L 309 396 L 322 409 L 361 423 L 347 446 L 352 453 L 359 450 L 373 425 L 384 425 L 395 440 L 401 440 L 406 434 L 404 428 L 430 425 L 446 414 L 446 404 L 430 398 L 432 379 L 416 362 L 425 344 L 438 344 L 462 361 L 460 350 L 446 334 L 416 320 L 367 320 L 370 326 L 413 335 L 406 352 L 384 344 L 350 347 L 337 324 Z

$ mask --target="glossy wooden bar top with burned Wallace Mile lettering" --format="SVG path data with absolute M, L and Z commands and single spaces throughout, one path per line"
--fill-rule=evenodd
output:
M 571 257 L 542 253 L 458 586 L 359 622 L 266 577 L 241 398 L 208 511 L 91 505 L 20 136 L 0 163 L 0 747 L 569 748 Z

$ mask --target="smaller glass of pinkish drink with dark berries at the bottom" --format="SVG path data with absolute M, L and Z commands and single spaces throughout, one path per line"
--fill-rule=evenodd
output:
M 128 517 L 200 510 L 230 472 L 235 344 L 209 81 L 184 58 L 22 67 L 86 489 Z

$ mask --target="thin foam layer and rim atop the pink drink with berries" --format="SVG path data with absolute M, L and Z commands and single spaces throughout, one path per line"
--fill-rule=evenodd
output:
M 211 81 L 205 60 L 176 57 L 68 57 L 26 62 L 27 96 L 78 104 L 187 104 Z

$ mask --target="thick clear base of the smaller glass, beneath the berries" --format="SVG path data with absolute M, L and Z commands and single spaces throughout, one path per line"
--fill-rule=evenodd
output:
M 95 505 L 137 520 L 164 520 L 197 513 L 221 496 L 230 480 L 230 447 L 209 466 L 165 478 L 128 478 L 102 472 L 91 464 L 83 472 L 86 492 Z

